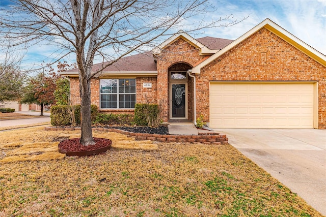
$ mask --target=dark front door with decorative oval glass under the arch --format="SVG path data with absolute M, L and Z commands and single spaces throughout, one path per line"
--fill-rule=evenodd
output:
M 171 117 L 184 119 L 187 117 L 186 83 L 171 84 Z

